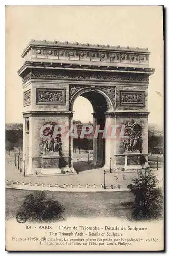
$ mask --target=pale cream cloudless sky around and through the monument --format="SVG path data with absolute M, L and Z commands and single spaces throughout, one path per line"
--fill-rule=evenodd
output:
M 31 39 L 148 47 L 149 122 L 163 123 L 163 30 L 161 6 L 7 6 L 6 123 L 23 122 L 21 53 Z M 92 121 L 92 106 L 78 97 L 73 119 Z M 83 113 L 83 115 L 81 115 Z

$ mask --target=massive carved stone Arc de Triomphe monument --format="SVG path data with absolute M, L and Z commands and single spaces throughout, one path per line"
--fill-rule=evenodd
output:
M 126 139 L 93 139 L 93 164 L 106 169 L 146 166 L 148 85 L 155 71 L 149 68 L 149 54 L 147 48 L 31 40 L 18 71 L 26 175 L 74 172 L 72 136 L 52 134 L 56 124 L 70 129 L 79 95 L 93 106 L 94 129 L 125 125 Z M 42 127 L 46 138 L 40 136 Z

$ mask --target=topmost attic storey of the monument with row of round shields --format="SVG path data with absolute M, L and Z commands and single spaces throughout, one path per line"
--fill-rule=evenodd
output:
M 148 48 L 32 40 L 22 53 L 22 58 L 26 57 L 26 60 L 30 61 L 41 61 L 42 59 L 53 62 L 76 60 L 148 66 L 149 54 Z

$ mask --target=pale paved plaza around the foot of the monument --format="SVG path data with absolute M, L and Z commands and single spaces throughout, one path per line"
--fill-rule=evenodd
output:
M 26 176 L 23 177 L 23 166 L 22 166 L 22 172 L 20 172 L 20 169 L 18 170 L 17 166 L 15 167 L 15 152 L 13 151 L 11 155 L 9 156 L 6 154 L 6 180 L 13 181 L 16 183 L 17 181 L 19 183 L 24 182 L 25 184 L 31 183 L 35 184 L 37 183 L 38 186 L 41 186 L 42 183 L 45 185 L 56 185 L 58 186 L 69 186 L 73 185 L 77 188 L 82 188 L 80 190 L 87 189 L 89 187 L 100 188 L 100 190 L 103 190 L 103 187 L 101 185 L 104 185 L 104 169 L 103 168 L 96 168 L 91 164 L 91 158 L 92 154 L 89 158 L 88 162 L 88 154 L 87 153 L 81 153 L 81 155 L 76 153 L 76 157 L 79 159 L 79 174 L 77 173 L 66 173 L 66 174 L 58 174 L 58 175 L 49 175 L 49 176 L 42 176 L 42 175 L 36 175 L 36 176 Z M 22 157 L 22 155 L 20 155 Z M 20 159 L 20 158 L 19 158 Z M 20 162 L 19 162 L 20 163 Z M 77 158 L 75 158 L 73 162 L 73 166 L 75 170 L 77 170 Z M 159 163 L 159 169 L 153 169 L 154 173 L 157 175 L 159 180 L 159 185 L 163 186 L 163 167 L 161 163 Z M 126 189 L 127 185 L 131 182 L 132 178 L 136 175 L 135 172 L 130 171 L 116 171 L 110 173 L 109 171 L 106 172 L 106 188 L 111 188 L 111 186 L 114 186 L 114 189 L 121 188 Z M 80 185 L 80 187 L 78 187 Z M 88 185 L 86 187 L 86 185 Z M 26 189 L 26 187 L 25 187 Z M 73 188 L 72 188 L 73 189 Z M 74 190 L 76 190 L 74 188 Z M 98 189 L 96 189 L 98 190 Z M 111 189 L 112 190 L 112 189 Z

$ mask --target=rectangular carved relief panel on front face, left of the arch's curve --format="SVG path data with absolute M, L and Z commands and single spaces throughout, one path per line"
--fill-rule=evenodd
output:
M 36 89 L 36 103 L 65 105 L 65 89 Z

